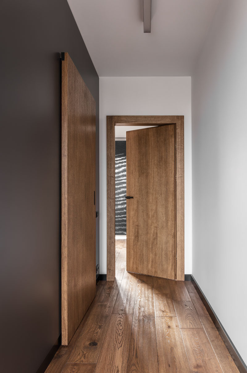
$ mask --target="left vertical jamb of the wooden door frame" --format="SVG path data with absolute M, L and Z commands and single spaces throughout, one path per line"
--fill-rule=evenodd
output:
M 115 122 L 106 117 L 107 281 L 115 279 Z

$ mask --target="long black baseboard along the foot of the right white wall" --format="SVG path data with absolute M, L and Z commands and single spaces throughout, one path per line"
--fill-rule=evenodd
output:
M 226 348 L 229 351 L 232 359 L 234 360 L 234 363 L 236 364 L 238 370 L 240 371 L 240 373 L 247 373 L 247 366 L 246 366 L 246 364 L 244 363 L 244 361 L 241 358 L 241 356 L 240 356 L 237 348 L 232 343 L 231 338 L 226 333 L 223 325 L 221 324 L 221 322 L 219 321 L 218 317 L 216 316 L 215 311 L 211 307 L 209 301 L 207 300 L 207 298 L 205 297 L 205 295 L 201 291 L 200 286 L 198 285 L 198 283 L 196 282 L 196 280 L 194 279 L 194 277 L 192 275 L 185 275 L 185 277 L 186 276 L 190 276 L 191 277 L 190 280 L 193 283 L 194 288 L 196 289 L 199 297 L 201 298 L 201 301 L 203 302 L 203 304 L 204 304 L 207 312 L 209 313 L 209 316 L 213 320 L 213 323 L 215 324 L 216 329 L 219 332 L 219 335 L 223 339 L 223 341 L 224 341 L 224 343 L 226 345 Z M 186 280 L 186 278 L 185 278 L 185 280 Z

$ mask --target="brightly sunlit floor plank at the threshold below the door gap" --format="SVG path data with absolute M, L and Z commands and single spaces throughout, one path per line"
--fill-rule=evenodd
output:
M 119 288 L 118 297 L 113 308 L 113 313 L 133 313 L 136 286 L 137 278 L 131 273 L 125 271 Z

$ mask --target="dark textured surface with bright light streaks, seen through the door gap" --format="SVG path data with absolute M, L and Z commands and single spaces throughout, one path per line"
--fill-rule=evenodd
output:
M 126 235 L 126 141 L 115 141 L 115 233 Z

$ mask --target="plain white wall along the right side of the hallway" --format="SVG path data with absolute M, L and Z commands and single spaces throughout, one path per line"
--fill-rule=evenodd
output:
M 192 77 L 192 273 L 247 363 L 247 1 L 221 0 Z

